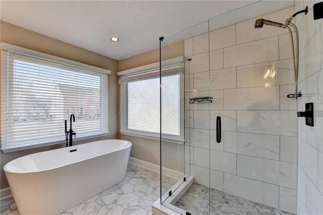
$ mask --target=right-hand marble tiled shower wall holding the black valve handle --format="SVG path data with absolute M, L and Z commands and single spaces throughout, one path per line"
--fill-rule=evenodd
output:
M 308 6 L 308 15 L 297 17 L 300 34 L 298 111 L 314 104 L 314 127 L 298 119 L 297 214 L 323 214 L 323 19 L 313 20 L 312 8 L 321 1 L 297 2 L 296 11 Z

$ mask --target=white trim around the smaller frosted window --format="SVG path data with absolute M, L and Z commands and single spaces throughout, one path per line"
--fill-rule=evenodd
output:
M 180 62 L 182 62 L 182 63 L 184 62 L 183 57 L 164 61 L 163 65 L 165 65 L 167 67 L 168 65 L 176 64 L 176 63 L 180 63 Z M 145 71 L 147 71 L 147 70 L 151 70 L 151 71 L 154 71 L 156 69 L 159 70 L 159 68 L 157 68 L 157 66 L 159 66 L 159 63 L 145 65 L 142 67 L 118 72 L 118 76 L 131 75 L 131 74 L 137 73 L 137 72 L 145 73 Z M 183 68 L 183 71 L 184 71 L 184 68 Z M 179 73 L 179 75 L 180 75 L 180 77 L 179 77 L 180 78 L 180 82 L 179 82 L 179 84 L 180 84 L 180 89 L 179 89 L 180 90 L 180 98 L 179 98 L 179 102 L 180 102 L 180 111 L 179 111 L 180 135 L 162 134 L 161 141 L 183 145 L 185 143 L 185 140 L 184 140 L 184 138 L 185 138 L 185 134 L 184 134 L 184 131 L 185 131 L 185 126 L 184 126 L 184 113 L 185 113 L 185 110 L 184 110 L 184 73 L 181 72 L 181 73 Z M 151 77 L 151 78 L 144 78 L 144 79 L 147 80 L 147 79 L 152 79 L 152 78 L 159 78 L 159 77 Z M 142 79 L 142 80 L 144 80 L 144 79 Z M 135 80 L 135 81 L 139 81 L 139 80 Z M 127 125 L 128 125 L 128 122 L 127 122 L 127 119 L 128 119 L 128 115 L 127 115 L 127 113 L 128 113 L 127 83 L 128 82 L 121 82 L 120 83 L 120 133 L 123 135 L 159 141 L 160 140 L 159 133 L 131 130 L 131 129 L 127 128 Z

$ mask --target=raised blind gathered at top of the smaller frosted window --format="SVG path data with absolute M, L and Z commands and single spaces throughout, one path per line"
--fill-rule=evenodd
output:
M 138 81 L 138 80 L 145 80 L 150 78 L 159 77 L 159 68 L 153 68 L 148 70 L 143 70 L 139 72 L 134 72 L 126 75 L 119 76 L 119 84 Z M 169 76 L 183 73 L 183 63 L 176 63 L 173 65 L 168 65 L 161 67 L 161 76 Z

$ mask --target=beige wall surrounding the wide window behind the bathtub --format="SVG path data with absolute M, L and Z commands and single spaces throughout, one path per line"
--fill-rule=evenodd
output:
M 80 63 L 100 67 L 103 69 L 111 70 L 112 73 L 109 76 L 109 130 L 110 133 L 106 137 L 95 138 L 98 139 L 118 139 L 118 61 L 98 55 L 97 53 L 70 45 L 68 43 L 56 40 L 42 34 L 38 34 L 29 31 L 24 28 L 20 28 L 15 25 L 11 25 L 6 22 L 0 23 L 0 41 L 17 45 L 24 48 L 47 53 L 49 55 L 58 56 L 61 58 L 77 61 Z M 62 128 L 63 129 L 63 128 Z M 64 135 L 62 133 L 62 135 Z M 88 140 L 87 140 L 88 141 Z M 84 141 L 76 141 L 75 144 L 83 143 Z M 41 147 L 36 149 L 23 150 L 18 152 L 2 153 L 0 152 L 0 166 L 1 166 L 1 184 L 0 189 L 8 187 L 8 182 L 5 177 L 3 167 L 10 160 L 17 157 L 35 153 L 39 151 L 45 151 L 54 148 L 64 147 L 65 144 Z

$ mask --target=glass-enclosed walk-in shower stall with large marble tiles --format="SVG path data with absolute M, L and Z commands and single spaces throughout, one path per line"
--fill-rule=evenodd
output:
M 290 4 L 255 2 L 159 38 L 161 205 L 179 214 L 296 214 L 290 35 L 254 28 L 303 7 Z M 173 58 L 182 61 L 172 73 L 176 89 L 166 61 Z

